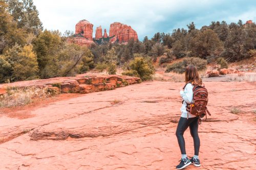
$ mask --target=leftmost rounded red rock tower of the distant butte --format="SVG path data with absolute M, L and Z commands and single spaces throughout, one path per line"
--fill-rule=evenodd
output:
M 93 25 L 92 25 L 92 23 L 90 23 L 86 19 L 80 20 L 76 24 L 75 33 L 76 34 L 80 33 L 84 38 L 88 38 L 88 39 L 92 40 L 93 39 Z

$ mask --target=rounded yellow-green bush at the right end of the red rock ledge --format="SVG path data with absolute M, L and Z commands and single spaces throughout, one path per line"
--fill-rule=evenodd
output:
M 124 71 L 124 74 L 136 74 L 135 71 L 137 71 L 138 76 L 141 78 L 142 81 L 145 80 L 152 80 L 152 76 L 155 73 L 155 68 L 152 64 L 151 59 L 143 58 L 143 57 L 136 57 L 134 60 L 132 60 L 129 65 L 127 66 L 129 72 Z M 135 71 L 131 71 L 135 70 Z

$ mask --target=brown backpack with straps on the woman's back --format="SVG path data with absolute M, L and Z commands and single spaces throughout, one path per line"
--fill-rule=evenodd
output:
M 188 83 L 186 83 L 187 85 Z M 184 88 L 186 87 L 184 86 Z M 184 89 L 183 88 L 183 89 Z M 206 105 L 208 103 L 208 91 L 207 89 L 203 86 L 199 85 L 194 85 L 193 87 L 193 100 L 190 104 L 187 103 L 186 110 L 188 113 L 191 113 L 193 115 L 196 115 L 200 118 L 206 116 L 206 112 L 210 114 L 209 110 L 207 109 Z M 188 113 L 187 113 L 187 118 L 188 118 Z M 207 119 L 207 116 L 206 116 Z

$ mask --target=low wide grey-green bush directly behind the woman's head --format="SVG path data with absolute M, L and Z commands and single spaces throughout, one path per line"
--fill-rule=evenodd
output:
M 186 66 L 190 64 L 195 65 L 198 70 L 203 70 L 206 69 L 207 61 L 197 57 L 184 58 L 181 62 L 168 65 L 165 72 L 173 71 L 182 74 L 185 72 Z

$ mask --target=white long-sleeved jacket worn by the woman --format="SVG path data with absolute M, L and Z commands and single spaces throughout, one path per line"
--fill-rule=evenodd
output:
M 188 83 L 185 86 L 184 91 L 183 90 L 180 91 L 180 96 L 184 100 L 184 102 L 183 102 L 183 104 L 182 104 L 182 106 L 180 108 L 181 117 L 187 118 L 186 106 L 187 106 L 187 103 L 190 104 L 192 102 L 192 100 L 193 100 L 193 87 L 194 86 L 191 83 Z M 190 118 L 190 117 L 196 117 L 196 116 L 193 115 L 193 114 L 188 113 L 188 118 Z

